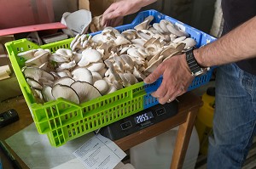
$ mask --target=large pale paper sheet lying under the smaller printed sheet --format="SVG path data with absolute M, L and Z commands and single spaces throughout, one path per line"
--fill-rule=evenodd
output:
M 30 169 L 86 169 L 84 164 L 73 155 L 73 151 L 79 149 L 81 145 L 93 136 L 94 133 L 90 132 L 55 148 L 49 144 L 47 135 L 39 134 L 35 124 L 32 123 L 30 126 L 7 138 L 5 142 Z

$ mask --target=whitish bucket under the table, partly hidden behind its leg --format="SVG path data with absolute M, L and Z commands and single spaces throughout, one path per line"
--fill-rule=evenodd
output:
M 131 165 L 136 169 L 169 169 L 177 138 L 177 129 L 173 128 L 155 138 L 138 144 L 130 149 Z M 184 159 L 183 169 L 194 169 L 200 149 L 198 134 L 193 127 L 189 147 Z

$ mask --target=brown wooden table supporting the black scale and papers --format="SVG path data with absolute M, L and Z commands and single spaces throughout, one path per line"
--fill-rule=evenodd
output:
M 179 100 L 177 115 L 167 119 L 166 121 L 161 121 L 153 126 L 144 128 L 143 130 L 135 132 L 125 138 L 121 138 L 115 141 L 115 143 L 125 151 L 137 144 L 143 143 L 150 138 L 154 138 L 160 133 L 179 126 L 177 132 L 177 142 L 170 161 L 172 160 L 171 169 L 182 168 L 185 154 L 189 145 L 189 138 L 194 126 L 195 117 L 202 105 L 202 101 L 200 97 L 193 93 L 184 93 L 177 99 Z M 26 105 L 26 101 L 22 96 L 2 102 L 0 103 L 0 107 L 1 111 L 14 108 L 17 110 L 20 116 L 19 121 L 16 121 L 9 126 L 0 128 L 0 140 L 2 141 L 14 135 L 16 132 L 19 132 L 21 129 L 29 126 L 33 122 L 30 111 Z M 7 144 L 6 146 L 9 148 Z M 11 153 L 13 153 L 13 155 L 15 155 L 15 152 L 12 149 L 9 148 L 9 150 Z M 0 150 L 0 156 L 3 163 L 3 168 L 13 168 L 7 157 L 3 155 L 2 150 Z M 19 156 L 15 155 L 15 158 L 17 161 L 19 161 L 22 168 L 28 168 L 26 164 L 20 160 Z

